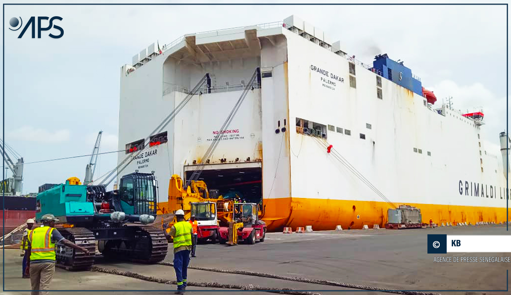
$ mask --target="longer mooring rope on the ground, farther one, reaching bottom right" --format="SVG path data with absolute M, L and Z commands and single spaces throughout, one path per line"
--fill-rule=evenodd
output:
M 158 262 L 160 265 L 174 266 L 172 262 Z M 254 277 L 262 277 L 262 278 L 270 278 L 270 279 L 278 279 L 278 280 L 287 280 L 294 282 L 303 282 L 310 284 L 318 284 L 318 285 L 329 285 L 329 286 L 338 286 L 352 289 L 363 289 L 369 291 L 381 291 L 387 293 L 396 293 L 396 294 L 406 294 L 406 295 L 440 295 L 440 293 L 432 293 L 432 292 L 420 292 L 420 291 L 398 291 L 392 290 L 389 288 L 380 288 L 380 287 L 372 287 L 372 286 L 364 286 L 364 285 L 356 285 L 350 283 L 342 283 L 328 280 L 316 280 L 316 279 L 306 279 L 300 277 L 286 277 L 279 276 L 274 274 L 267 273 L 259 273 L 259 272 L 249 272 L 249 271 L 235 271 L 229 269 L 219 269 L 219 268 L 209 268 L 209 267 L 200 267 L 200 266 L 188 266 L 191 269 L 197 269 L 199 271 L 207 271 L 207 272 L 216 272 L 216 273 L 225 273 L 225 274 L 234 274 L 234 275 L 245 275 L 245 276 L 254 276 Z

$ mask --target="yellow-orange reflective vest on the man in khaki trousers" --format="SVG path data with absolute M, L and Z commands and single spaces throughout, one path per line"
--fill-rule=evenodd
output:
M 30 261 L 39 259 L 55 260 L 55 243 L 52 242 L 52 227 L 37 227 L 30 231 Z

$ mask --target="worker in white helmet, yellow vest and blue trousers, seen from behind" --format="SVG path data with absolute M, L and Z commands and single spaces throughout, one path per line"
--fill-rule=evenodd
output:
M 192 225 L 184 220 L 184 211 L 179 209 L 175 213 L 177 223 L 167 233 L 168 224 L 164 225 L 164 233 L 170 242 L 174 239 L 174 270 L 176 271 L 177 291 L 174 294 L 184 294 L 187 287 L 188 263 L 190 262 L 190 251 L 192 250 Z

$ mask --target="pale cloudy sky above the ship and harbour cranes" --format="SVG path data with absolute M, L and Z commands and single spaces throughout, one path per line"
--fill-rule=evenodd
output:
M 482 106 L 484 142 L 498 153 L 506 119 L 506 11 L 502 6 L 4 6 L 6 142 L 25 162 L 117 150 L 120 68 L 142 48 L 184 34 L 280 21 L 295 14 L 371 62 L 387 53 L 438 98 Z M 11 32 L 9 19 L 60 16 L 64 36 Z M 46 27 L 48 21 L 43 21 Z M 25 23 L 24 23 L 25 26 Z M 36 31 L 37 34 L 37 31 Z M 25 165 L 24 192 L 83 180 L 88 157 Z M 96 176 L 117 155 L 99 158 Z M 8 176 L 11 172 L 8 171 Z

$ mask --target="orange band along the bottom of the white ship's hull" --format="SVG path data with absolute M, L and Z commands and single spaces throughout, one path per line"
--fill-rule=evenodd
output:
M 421 209 L 422 222 L 433 223 L 506 222 L 506 208 L 436 205 L 418 203 L 394 203 L 410 205 Z M 383 228 L 387 223 L 387 209 L 393 209 L 385 202 L 280 198 L 264 199 L 263 215 L 268 231 L 282 231 L 284 227 L 297 228 L 312 226 L 314 230 L 334 230 L 337 225 L 343 229 L 361 229 L 363 225 Z M 158 203 L 158 214 L 169 213 L 167 202 Z M 509 210 L 511 213 L 511 209 Z M 511 216 L 511 214 L 510 214 Z

